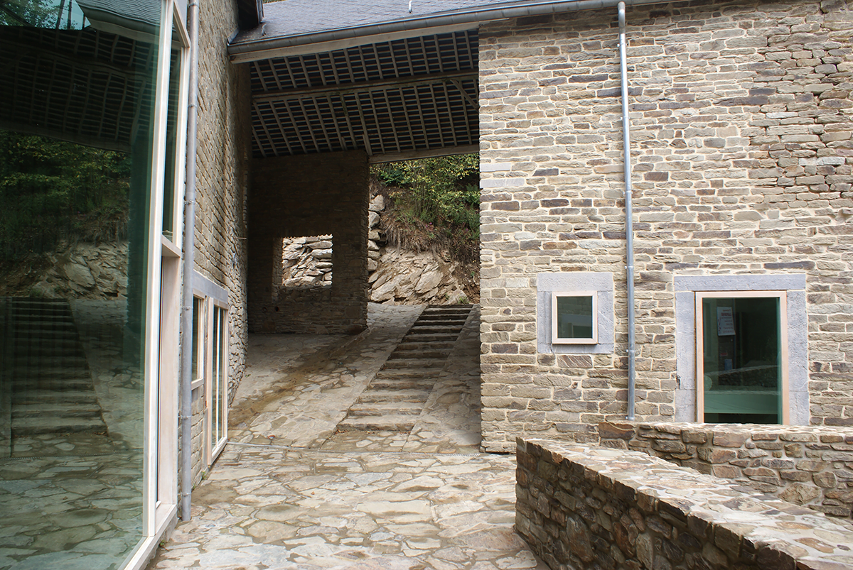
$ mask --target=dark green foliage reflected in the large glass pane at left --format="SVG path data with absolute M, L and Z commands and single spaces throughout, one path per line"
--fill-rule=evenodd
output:
M 0 258 L 124 237 L 130 166 L 124 153 L 0 130 Z

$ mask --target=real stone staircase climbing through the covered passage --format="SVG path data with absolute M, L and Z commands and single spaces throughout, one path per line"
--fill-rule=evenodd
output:
M 338 424 L 339 431 L 410 431 L 471 308 L 472 305 L 425 308 Z

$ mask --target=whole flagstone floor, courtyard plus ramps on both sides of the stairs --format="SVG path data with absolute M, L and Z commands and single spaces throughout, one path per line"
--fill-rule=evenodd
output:
M 420 312 L 250 337 L 230 442 L 149 570 L 545 570 L 513 530 L 514 458 L 479 452 L 477 308 L 411 432 L 336 429 Z

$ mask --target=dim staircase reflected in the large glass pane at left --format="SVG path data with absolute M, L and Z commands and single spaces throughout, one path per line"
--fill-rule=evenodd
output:
M 106 433 L 71 306 L 65 299 L 8 301 L 12 439 Z

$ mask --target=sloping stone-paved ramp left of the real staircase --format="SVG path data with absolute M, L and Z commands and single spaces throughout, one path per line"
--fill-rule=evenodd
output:
M 250 335 L 229 440 L 322 445 L 422 310 L 370 303 L 368 330 L 356 337 Z

